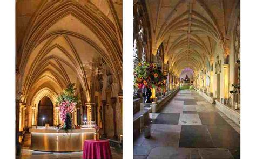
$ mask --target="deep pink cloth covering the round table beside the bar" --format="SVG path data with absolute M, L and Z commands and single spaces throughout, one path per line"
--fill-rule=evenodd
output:
M 108 140 L 85 140 L 83 159 L 112 158 Z

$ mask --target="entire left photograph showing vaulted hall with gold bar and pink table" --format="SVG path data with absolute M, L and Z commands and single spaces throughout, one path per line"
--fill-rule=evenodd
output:
M 122 0 L 16 1 L 16 158 L 122 158 Z

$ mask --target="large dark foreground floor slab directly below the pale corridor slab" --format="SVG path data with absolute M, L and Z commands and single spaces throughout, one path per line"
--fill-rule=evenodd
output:
M 205 125 L 183 125 L 181 127 L 179 147 L 214 147 Z

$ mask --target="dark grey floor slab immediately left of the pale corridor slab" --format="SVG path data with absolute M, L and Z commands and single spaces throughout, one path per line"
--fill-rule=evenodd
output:
M 154 120 L 154 124 L 177 125 L 179 123 L 179 115 L 178 113 L 160 113 L 156 120 Z

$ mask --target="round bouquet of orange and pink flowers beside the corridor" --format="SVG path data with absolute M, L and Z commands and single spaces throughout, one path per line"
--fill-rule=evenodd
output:
M 167 77 L 164 76 L 161 68 L 154 63 L 139 63 L 133 74 L 136 88 L 162 88 L 166 85 Z

